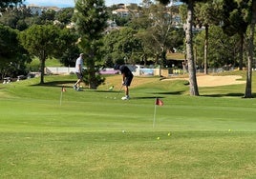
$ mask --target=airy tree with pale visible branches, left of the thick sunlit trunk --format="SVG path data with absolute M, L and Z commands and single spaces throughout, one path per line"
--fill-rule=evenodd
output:
M 183 42 L 183 32 L 175 28 L 174 12 L 177 7 L 165 7 L 143 1 L 144 8 L 135 16 L 129 27 L 138 30 L 136 36 L 141 41 L 140 55 L 144 64 L 147 59 L 155 58 L 155 64 L 167 66 L 167 51 L 178 48 Z

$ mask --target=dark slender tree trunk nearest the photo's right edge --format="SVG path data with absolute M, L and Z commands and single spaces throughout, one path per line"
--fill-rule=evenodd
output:
M 252 61 L 253 61 L 253 50 L 254 50 L 254 31 L 256 23 L 256 1 L 252 1 L 252 20 L 249 31 L 249 42 L 248 42 L 248 62 L 246 72 L 246 86 L 245 86 L 245 98 L 252 98 L 251 84 L 252 84 Z

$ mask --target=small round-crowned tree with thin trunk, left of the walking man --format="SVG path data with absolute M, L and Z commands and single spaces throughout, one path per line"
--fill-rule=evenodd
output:
M 33 25 L 19 35 L 22 46 L 40 60 L 41 80 L 44 84 L 45 61 L 48 57 L 60 57 L 72 46 L 74 38 L 69 38 L 68 30 L 60 30 L 53 25 Z

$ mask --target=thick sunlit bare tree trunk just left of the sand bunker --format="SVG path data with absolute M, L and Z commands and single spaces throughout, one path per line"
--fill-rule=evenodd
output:
M 190 95 L 199 95 L 199 89 L 197 84 L 196 76 L 196 66 L 193 54 L 193 35 L 192 35 L 192 19 L 194 13 L 194 1 L 189 0 L 187 3 L 187 19 L 185 27 L 185 39 L 186 39 L 186 58 L 188 63 L 188 73 L 189 73 L 189 88 Z

